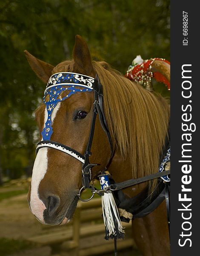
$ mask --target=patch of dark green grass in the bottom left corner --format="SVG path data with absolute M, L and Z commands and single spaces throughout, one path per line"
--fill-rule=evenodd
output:
M 16 240 L 8 238 L 0 238 L 0 255 L 6 256 L 11 253 L 17 253 L 21 250 L 31 249 L 35 244 L 25 240 Z

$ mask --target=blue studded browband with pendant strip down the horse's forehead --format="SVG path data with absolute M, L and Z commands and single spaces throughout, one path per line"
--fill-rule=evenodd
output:
M 91 76 L 77 73 L 62 72 L 53 74 L 44 92 L 43 102 L 46 105 L 48 117 L 42 131 L 43 140 L 50 140 L 53 133 L 52 112 L 58 102 L 68 99 L 77 92 L 91 92 L 97 89 L 97 80 Z M 63 93 L 66 91 L 66 93 Z M 62 96 L 63 94 L 63 96 Z

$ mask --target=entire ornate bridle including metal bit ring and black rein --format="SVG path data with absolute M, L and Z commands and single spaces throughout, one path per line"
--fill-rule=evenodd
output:
M 66 86 L 69 86 L 69 87 L 66 87 Z M 68 91 L 69 93 L 63 98 L 61 98 L 60 94 L 63 91 Z M 54 108 L 57 106 L 58 102 L 62 102 L 63 100 L 68 99 L 72 94 L 77 92 L 92 92 L 92 91 L 94 92 L 93 116 L 91 121 L 88 144 L 86 147 L 85 154 L 82 155 L 80 152 L 76 151 L 75 149 L 67 145 L 63 145 L 61 143 L 54 142 L 51 140 L 51 135 L 53 133 L 51 115 Z M 47 96 L 49 96 L 49 99 Z M 44 147 L 54 148 L 54 149 L 63 151 L 66 154 L 71 155 L 72 157 L 76 158 L 82 163 L 83 186 L 78 193 L 78 197 L 80 198 L 81 201 L 89 201 L 91 198 L 93 198 L 95 193 L 102 195 L 102 193 L 104 192 L 108 193 L 108 192 L 111 192 L 111 190 L 120 190 L 125 187 L 133 186 L 135 184 L 152 180 L 158 177 L 161 177 L 164 183 L 170 183 L 170 178 L 168 176 L 170 174 L 170 170 L 166 171 L 163 168 L 164 164 L 167 161 L 169 161 L 169 157 L 170 157 L 170 148 L 169 148 L 169 154 L 166 154 L 165 158 L 163 159 L 164 162 L 161 163 L 158 173 L 144 176 L 138 179 L 126 180 L 121 183 L 115 183 L 103 190 L 97 190 L 94 188 L 94 186 L 90 185 L 91 169 L 92 167 L 97 166 L 96 163 L 89 162 L 89 156 L 91 156 L 91 145 L 94 137 L 94 128 L 95 128 L 97 114 L 99 115 L 100 124 L 103 128 L 103 131 L 106 133 L 109 140 L 110 149 L 111 149 L 110 160 L 113 157 L 113 153 L 114 153 L 111 134 L 109 132 L 109 128 L 106 122 L 106 117 L 103 111 L 103 88 L 97 75 L 96 75 L 96 78 L 94 79 L 93 77 L 85 76 L 78 73 L 71 73 L 71 72 L 55 73 L 49 78 L 49 82 L 46 86 L 46 90 L 44 93 L 43 102 L 46 105 L 48 117 L 45 123 L 45 127 L 43 128 L 43 131 L 41 133 L 43 140 L 41 140 L 37 144 L 36 153 L 40 148 L 44 148 Z M 105 172 L 105 169 L 102 171 L 102 173 L 103 172 Z M 84 200 L 81 198 L 81 192 L 83 191 L 83 189 L 86 189 L 86 188 L 91 189 L 92 196 L 91 198 Z

